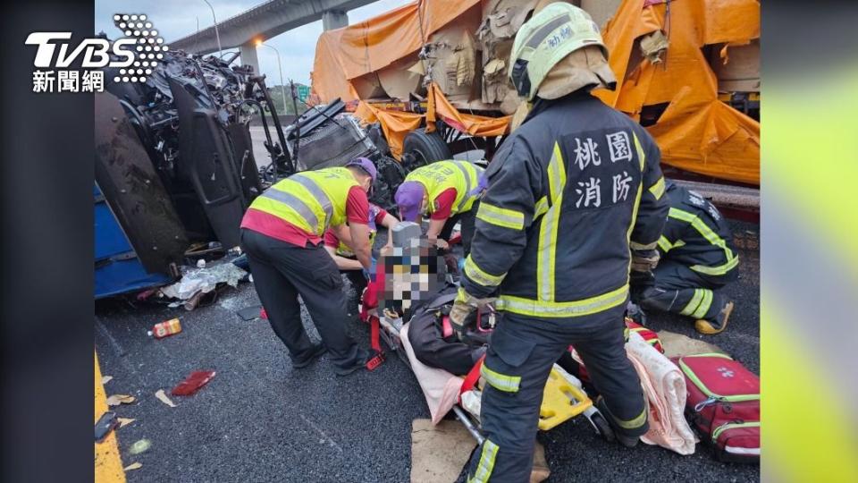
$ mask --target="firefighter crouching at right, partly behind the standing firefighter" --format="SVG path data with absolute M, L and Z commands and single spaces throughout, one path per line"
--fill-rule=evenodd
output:
M 716 292 L 738 277 L 739 257 L 727 220 L 694 191 L 667 182 L 668 221 L 659 238 L 660 261 L 652 286 L 638 299 L 644 309 L 663 310 L 696 319 L 701 334 L 727 327 L 733 302 Z

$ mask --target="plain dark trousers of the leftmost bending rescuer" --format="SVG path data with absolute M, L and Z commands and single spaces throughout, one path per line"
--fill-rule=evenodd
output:
M 340 270 L 322 245 L 301 248 L 242 229 L 241 250 L 248 254 L 268 322 L 289 348 L 292 360 L 305 359 L 313 350 L 301 324 L 300 295 L 332 362 L 349 367 L 357 361 L 357 343 L 346 329 Z

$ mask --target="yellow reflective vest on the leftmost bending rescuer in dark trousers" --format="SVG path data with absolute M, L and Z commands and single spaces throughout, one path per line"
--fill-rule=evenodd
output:
M 250 208 L 322 236 L 328 226 L 346 222 L 346 199 L 352 186 L 358 184 L 346 168 L 305 171 L 265 190 Z

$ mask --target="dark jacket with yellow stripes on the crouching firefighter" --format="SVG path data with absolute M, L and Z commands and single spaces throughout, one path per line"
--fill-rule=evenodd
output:
M 677 261 L 702 275 L 734 278 L 739 257 L 727 220 L 708 200 L 667 183 L 668 221 L 659 238 L 661 259 Z

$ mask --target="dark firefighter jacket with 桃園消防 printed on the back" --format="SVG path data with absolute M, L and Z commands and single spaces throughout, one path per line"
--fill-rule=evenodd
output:
M 655 249 L 668 214 L 659 161 L 643 127 L 589 93 L 538 99 L 486 170 L 464 289 L 537 318 L 624 304 L 630 249 Z

